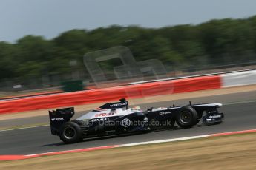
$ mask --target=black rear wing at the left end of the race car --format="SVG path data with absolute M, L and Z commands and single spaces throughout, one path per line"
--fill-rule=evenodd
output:
M 59 129 L 62 124 L 69 122 L 73 115 L 75 115 L 73 107 L 49 111 L 51 134 L 59 135 Z

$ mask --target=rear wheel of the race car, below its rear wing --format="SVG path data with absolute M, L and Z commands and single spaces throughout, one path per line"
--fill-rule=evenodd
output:
M 82 130 L 77 123 L 64 123 L 59 131 L 59 138 L 64 143 L 77 143 L 81 140 Z

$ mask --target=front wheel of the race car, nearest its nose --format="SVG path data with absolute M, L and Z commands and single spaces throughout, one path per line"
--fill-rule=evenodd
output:
M 197 111 L 191 106 L 183 106 L 180 108 L 176 117 L 177 124 L 182 128 L 191 128 L 198 123 L 197 120 Z

